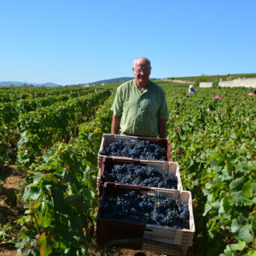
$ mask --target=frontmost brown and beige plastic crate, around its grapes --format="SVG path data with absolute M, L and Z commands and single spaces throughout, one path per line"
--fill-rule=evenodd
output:
M 179 199 L 188 203 L 190 219 L 189 229 L 177 230 L 171 226 L 142 224 L 138 222 L 127 221 L 126 219 L 105 219 L 101 218 L 101 210 L 106 198 L 113 194 L 127 194 L 135 190 L 139 194 L 154 194 L 156 192 L 162 194 L 165 198 Z M 167 190 L 159 188 L 150 188 L 145 186 L 130 186 L 106 182 L 102 190 L 102 198 L 98 208 L 97 216 L 97 242 L 103 245 L 107 241 L 116 239 L 131 239 L 131 238 L 149 238 L 156 242 L 173 244 L 182 248 L 182 254 L 186 255 L 188 246 L 192 245 L 194 237 L 194 217 L 192 210 L 192 198 L 190 191 L 185 190 Z M 146 242 L 130 243 L 124 245 L 124 248 L 132 250 L 150 250 L 158 254 L 168 254 L 166 251 L 156 251 L 158 246 L 150 246 Z M 153 248 L 154 247 L 154 248 Z M 147 249 L 146 249 L 147 248 Z

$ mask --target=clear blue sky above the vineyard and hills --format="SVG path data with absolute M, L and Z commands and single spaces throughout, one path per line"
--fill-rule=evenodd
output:
M 256 73 L 256 1 L 0 0 L 0 81 Z

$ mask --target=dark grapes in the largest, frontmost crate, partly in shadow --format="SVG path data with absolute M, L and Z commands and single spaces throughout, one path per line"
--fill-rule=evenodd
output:
M 189 229 L 188 204 L 155 193 L 110 195 L 102 207 L 101 218 L 124 219 L 142 224 L 158 224 L 176 229 Z

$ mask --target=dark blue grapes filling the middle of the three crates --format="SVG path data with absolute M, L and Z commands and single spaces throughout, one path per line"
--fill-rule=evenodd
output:
M 178 178 L 170 172 L 163 172 L 154 167 L 134 164 L 106 167 L 103 182 L 116 182 L 135 186 L 154 186 L 177 190 Z

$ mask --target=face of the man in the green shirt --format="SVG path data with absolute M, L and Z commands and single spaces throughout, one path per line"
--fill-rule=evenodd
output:
M 146 86 L 150 81 L 150 63 L 135 63 L 135 66 L 133 67 L 133 72 L 135 76 L 135 82 L 138 86 Z

